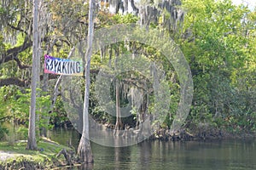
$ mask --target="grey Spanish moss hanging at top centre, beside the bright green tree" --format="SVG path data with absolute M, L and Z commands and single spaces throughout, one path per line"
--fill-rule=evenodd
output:
M 180 0 L 140 1 L 109 0 L 109 12 L 112 14 L 134 14 L 140 18 L 142 26 L 162 26 L 174 33 L 182 27 L 184 11 Z

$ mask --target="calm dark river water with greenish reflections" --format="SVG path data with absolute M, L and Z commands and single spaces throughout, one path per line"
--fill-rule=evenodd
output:
M 76 145 L 79 142 L 76 131 L 58 130 L 49 134 L 51 139 L 61 144 L 69 141 Z M 91 147 L 95 158 L 93 169 L 256 169 L 255 139 L 212 142 L 144 141 L 120 148 L 91 143 Z

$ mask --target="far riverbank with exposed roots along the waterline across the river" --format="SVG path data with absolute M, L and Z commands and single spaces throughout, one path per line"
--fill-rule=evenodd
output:
M 114 125 L 106 124 L 105 128 L 112 129 L 114 131 Z M 144 129 L 145 130 L 145 129 Z M 143 135 L 143 131 L 130 127 L 118 133 L 123 138 L 137 137 L 137 135 Z M 148 131 L 145 130 L 148 134 Z M 204 141 L 204 140 L 221 140 L 221 139 L 250 139 L 256 138 L 255 131 L 247 131 L 242 128 L 234 128 L 230 130 L 230 127 L 211 127 L 211 126 L 190 126 L 183 127 L 177 131 L 172 131 L 167 127 L 159 127 L 154 130 L 154 133 L 148 140 L 163 140 L 163 141 Z

